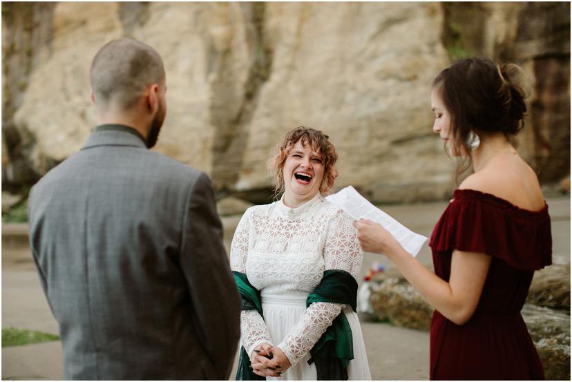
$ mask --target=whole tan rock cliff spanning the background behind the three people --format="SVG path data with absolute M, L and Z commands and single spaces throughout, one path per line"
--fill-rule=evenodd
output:
M 40 175 L 75 153 L 95 125 L 90 61 L 107 41 L 130 36 L 156 48 L 166 67 L 168 111 L 156 150 L 207 172 L 217 189 L 249 195 L 270 187 L 265 163 L 271 147 L 303 125 L 323 130 L 336 146 L 337 188 L 352 184 L 379 202 L 444 198 L 454 186 L 453 164 L 432 133 L 430 86 L 450 64 L 446 44 L 457 44 L 442 38 L 448 18 L 465 6 L 456 7 L 55 3 L 44 18 L 52 37 L 36 47 L 41 54 L 15 105 L 15 128 L 33 141 L 25 155 Z M 472 7 L 479 17 L 461 27 L 482 41 L 470 44 L 493 56 L 524 46 L 531 50 L 521 55 L 527 73 L 540 75 L 530 57 L 542 44 L 517 40 L 528 17 L 522 6 Z M 569 70 L 551 73 L 569 77 Z M 10 82 L 10 73 L 6 77 Z M 549 99 L 546 92 L 542 97 Z M 546 149 L 538 140 L 566 135 L 543 129 L 521 139 L 531 160 Z M 558 163 L 551 165 L 552 178 L 569 173 L 562 170 L 569 162 Z

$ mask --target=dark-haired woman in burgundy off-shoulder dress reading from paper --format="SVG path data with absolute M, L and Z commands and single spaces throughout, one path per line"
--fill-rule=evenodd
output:
M 508 140 L 523 126 L 517 66 L 458 61 L 435 79 L 433 131 L 472 165 L 433 230 L 435 274 L 380 225 L 354 223 L 364 251 L 385 254 L 433 307 L 430 379 L 544 379 L 522 320 L 534 271 L 551 265 L 548 206 Z

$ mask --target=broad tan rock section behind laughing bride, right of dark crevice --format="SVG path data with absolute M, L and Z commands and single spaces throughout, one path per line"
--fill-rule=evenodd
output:
M 428 99 L 447 64 L 433 27 L 440 23 L 440 9 L 430 3 L 269 5 L 271 76 L 260 89 L 236 187 L 268 184 L 269 149 L 303 125 L 323 130 L 336 146 L 339 187 L 370 194 L 381 184 L 439 188 L 450 166 L 436 155 Z

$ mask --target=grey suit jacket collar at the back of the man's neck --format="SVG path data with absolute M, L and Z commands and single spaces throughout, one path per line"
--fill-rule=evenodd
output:
M 97 126 L 82 150 L 96 146 L 131 146 L 147 149 L 143 136 L 134 128 L 120 124 Z

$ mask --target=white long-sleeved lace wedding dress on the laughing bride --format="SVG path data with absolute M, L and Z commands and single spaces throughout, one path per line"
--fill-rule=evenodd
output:
M 260 291 L 264 314 L 264 320 L 256 310 L 240 316 L 247 354 L 251 356 L 260 343 L 278 346 L 292 363 L 278 379 L 316 380 L 314 363 L 307 363 L 309 350 L 343 312 L 354 343 L 347 374 L 350 380 L 370 380 L 361 327 L 352 308 L 305 305 L 325 269 L 343 269 L 357 278 L 362 260 L 352 218 L 319 193 L 295 209 L 282 200 L 247 209 L 232 240 L 231 269 L 245 273 Z

